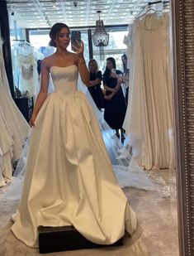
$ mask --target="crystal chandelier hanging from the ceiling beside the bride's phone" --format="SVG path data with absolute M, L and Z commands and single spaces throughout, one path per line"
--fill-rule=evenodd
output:
M 95 46 L 107 46 L 109 42 L 109 34 L 106 33 L 104 23 L 100 18 L 101 11 L 97 11 L 99 20 L 96 21 L 96 29 L 92 35 L 92 41 Z

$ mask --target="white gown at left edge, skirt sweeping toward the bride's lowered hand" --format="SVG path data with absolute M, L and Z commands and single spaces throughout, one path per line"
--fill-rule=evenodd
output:
M 22 146 L 29 133 L 29 125 L 17 108 L 8 88 L 7 74 L 0 50 L 0 107 L 14 142 L 12 162 L 15 162 L 21 157 Z

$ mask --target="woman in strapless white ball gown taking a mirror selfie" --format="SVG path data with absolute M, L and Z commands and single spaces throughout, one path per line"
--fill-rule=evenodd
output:
M 67 51 L 69 27 L 50 31 L 57 51 L 41 65 L 40 93 L 31 117 L 34 127 L 21 201 L 12 232 L 38 247 L 37 227 L 73 225 L 97 244 L 133 234 L 137 220 L 112 170 L 97 119 L 77 89 L 78 72 L 88 85 L 83 42 Z M 47 95 L 50 74 L 54 93 Z M 91 228 L 92 227 L 92 228 Z

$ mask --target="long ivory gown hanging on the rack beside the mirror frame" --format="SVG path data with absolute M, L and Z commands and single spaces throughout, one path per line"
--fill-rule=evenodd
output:
M 133 156 L 146 170 L 174 167 L 173 95 L 168 15 L 136 20 L 130 99 L 123 127 Z

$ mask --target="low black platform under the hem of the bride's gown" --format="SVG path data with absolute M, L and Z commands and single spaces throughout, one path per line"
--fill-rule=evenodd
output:
M 94 244 L 85 239 L 82 234 L 73 226 L 64 227 L 38 227 L 39 252 L 47 254 L 53 252 L 69 251 L 76 249 L 91 249 L 99 247 L 121 246 L 123 239 L 119 239 L 114 244 Z

